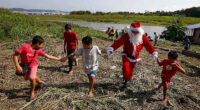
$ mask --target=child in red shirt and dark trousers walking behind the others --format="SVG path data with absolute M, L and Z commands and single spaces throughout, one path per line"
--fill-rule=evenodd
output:
M 66 53 L 66 48 L 67 48 L 67 55 L 74 53 L 76 49 L 76 43 L 79 49 L 79 40 L 78 40 L 78 37 L 76 36 L 76 33 L 71 30 L 71 25 L 66 24 L 65 31 L 64 31 L 64 53 Z M 73 62 L 75 62 L 77 65 L 75 58 L 72 56 L 68 59 L 69 74 L 73 73 L 72 71 Z

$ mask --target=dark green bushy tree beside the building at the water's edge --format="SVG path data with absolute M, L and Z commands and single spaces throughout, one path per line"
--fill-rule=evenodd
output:
M 169 24 L 166 31 L 162 32 L 161 38 L 172 41 L 182 41 L 185 36 L 185 27 L 180 20 Z

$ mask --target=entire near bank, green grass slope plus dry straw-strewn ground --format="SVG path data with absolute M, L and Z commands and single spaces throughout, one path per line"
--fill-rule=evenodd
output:
M 82 61 L 74 67 L 73 75 L 66 72 L 65 63 L 38 58 L 38 77 L 47 84 L 36 90 L 36 98 L 29 100 L 30 85 L 22 77 L 16 76 L 12 55 L 24 43 L 30 43 L 34 35 L 45 38 L 42 48 L 47 54 L 63 57 L 64 23 L 41 22 L 31 16 L 0 11 L 0 109 L 2 110 L 199 110 L 200 109 L 200 64 L 199 59 L 179 55 L 178 62 L 188 72 L 177 73 L 169 84 L 168 103 L 162 104 L 162 93 L 155 91 L 161 82 L 159 67 L 153 56 L 145 49 L 141 51 L 142 61 L 137 63 L 130 86 L 121 91 L 122 61 L 118 49 L 113 55 L 99 55 L 99 69 L 95 79 L 94 98 L 88 98 L 88 78 L 82 69 Z M 3 21 L 2 21 L 3 20 Z M 8 21 L 6 21 L 8 20 Z M 21 26 L 19 28 L 18 26 Z M 9 27 L 6 31 L 6 27 Z M 34 30 L 30 32 L 30 29 Z M 112 42 L 105 34 L 72 24 L 79 39 L 86 35 L 93 37 L 93 44 L 107 49 Z M 16 34 L 13 34 L 16 33 Z M 2 33 L 0 35 L 2 35 Z M 18 36 L 18 37 L 16 37 Z M 103 36 L 103 37 L 102 37 Z M 3 40 L 5 38 L 6 40 Z M 11 41 L 10 41 L 11 40 Z M 159 46 L 169 49 L 182 49 L 181 43 L 160 41 Z M 192 47 L 193 48 L 193 47 Z M 196 47 L 199 49 L 198 47 Z M 168 51 L 157 49 L 161 59 L 167 58 Z M 110 69 L 115 65 L 116 69 Z M 134 108 L 133 108 L 134 107 Z

